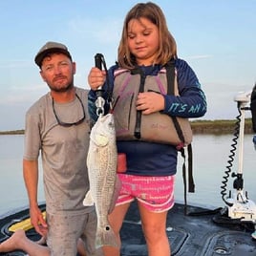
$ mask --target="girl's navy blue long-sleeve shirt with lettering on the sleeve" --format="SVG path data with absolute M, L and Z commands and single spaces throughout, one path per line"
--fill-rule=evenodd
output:
M 161 66 L 141 66 L 145 75 L 158 75 Z M 206 112 L 206 99 L 201 89 L 197 75 L 182 59 L 175 60 L 177 81 L 180 96 L 164 96 L 162 113 L 176 117 L 203 117 Z M 108 71 L 109 90 L 113 90 L 114 72 L 117 65 Z M 107 84 L 103 85 L 104 97 L 107 98 Z M 96 92 L 89 93 L 89 113 L 96 121 Z M 109 105 L 105 104 L 105 113 Z M 140 140 L 117 141 L 117 151 L 125 153 L 127 159 L 127 174 L 141 176 L 168 176 L 177 172 L 177 149 L 173 145 L 145 142 Z

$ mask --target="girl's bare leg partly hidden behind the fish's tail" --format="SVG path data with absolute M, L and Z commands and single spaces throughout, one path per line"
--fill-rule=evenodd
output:
M 124 203 L 117 205 L 112 213 L 109 215 L 109 223 L 111 227 L 114 229 L 115 234 L 119 240 L 119 244 L 121 245 L 120 241 L 120 229 L 126 215 L 126 212 L 130 206 L 130 203 Z M 114 246 L 103 246 L 104 256 L 120 256 L 120 248 Z

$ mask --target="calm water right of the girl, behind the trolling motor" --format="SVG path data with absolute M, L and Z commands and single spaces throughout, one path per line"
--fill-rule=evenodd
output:
M 223 177 L 228 171 L 228 160 L 232 150 L 231 144 L 234 143 L 232 135 L 214 136 L 214 135 L 198 135 L 194 136 L 193 141 L 193 167 L 194 180 L 196 183 L 196 193 L 188 194 L 188 203 L 204 204 L 208 206 L 224 206 L 221 195 L 221 186 L 223 185 Z M 244 151 L 242 151 L 240 162 L 243 162 L 243 168 L 239 170 L 239 145 L 236 145 L 235 157 L 231 161 L 231 172 L 226 185 L 226 195 L 233 189 L 234 178 L 231 174 L 238 171 L 243 172 L 244 192 L 247 191 L 248 198 L 256 203 L 255 190 L 255 156 L 256 151 L 252 142 L 252 135 L 245 135 Z M 181 160 L 180 160 L 181 165 Z M 180 187 L 181 186 L 181 187 Z M 181 168 L 180 174 L 177 176 L 176 199 L 182 201 L 181 194 L 183 189 Z

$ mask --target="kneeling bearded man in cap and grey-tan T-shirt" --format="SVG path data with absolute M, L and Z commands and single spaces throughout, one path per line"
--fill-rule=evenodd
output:
M 23 176 L 32 225 L 47 237 L 48 253 L 42 255 L 76 255 L 79 238 L 84 241 L 88 255 L 101 255 L 95 249 L 95 207 L 83 205 L 89 189 L 88 92 L 74 85 L 75 62 L 65 45 L 46 43 L 34 61 L 50 92 L 39 98 L 26 114 Z M 47 221 L 37 203 L 39 154 Z

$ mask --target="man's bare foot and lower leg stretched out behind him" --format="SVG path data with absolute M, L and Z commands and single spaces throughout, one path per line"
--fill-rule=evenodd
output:
M 25 231 L 17 230 L 11 238 L 0 245 L 0 252 L 9 252 L 13 250 L 23 250 L 30 256 L 49 256 L 50 251 L 47 246 L 38 245 L 27 238 Z

